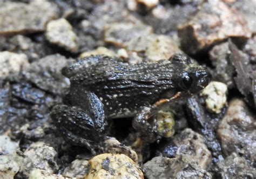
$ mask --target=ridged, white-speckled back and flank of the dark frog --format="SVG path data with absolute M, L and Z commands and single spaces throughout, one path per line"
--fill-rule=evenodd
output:
M 101 60 L 71 78 L 95 93 L 110 116 L 132 116 L 141 106 L 149 106 L 172 88 L 173 68 L 169 61 L 129 65 L 113 59 Z

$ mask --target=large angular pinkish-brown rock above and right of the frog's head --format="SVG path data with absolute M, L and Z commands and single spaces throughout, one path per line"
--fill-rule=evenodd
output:
M 190 54 L 206 50 L 228 37 L 247 39 L 251 32 L 237 11 L 221 1 L 206 1 L 198 13 L 178 27 L 183 49 Z

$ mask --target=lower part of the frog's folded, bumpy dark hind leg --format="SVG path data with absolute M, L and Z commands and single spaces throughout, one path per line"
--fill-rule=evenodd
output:
M 96 154 L 93 146 L 95 141 L 102 140 L 102 135 L 95 134 L 97 125 L 87 113 L 79 107 L 57 105 L 52 109 L 51 118 L 66 141 L 75 146 L 84 146 Z

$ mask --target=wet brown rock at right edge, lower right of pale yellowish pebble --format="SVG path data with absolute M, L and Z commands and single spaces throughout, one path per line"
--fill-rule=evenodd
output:
M 243 100 L 233 99 L 217 130 L 223 153 L 228 156 L 234 152 L 255 162 L 255 128 L 255 114 L 248 109 Z

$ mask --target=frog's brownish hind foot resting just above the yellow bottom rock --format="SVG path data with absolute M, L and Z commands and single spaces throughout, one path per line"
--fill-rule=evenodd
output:
M 107 137 L 105 141 L 100 144 L 100 153 L 111 153 L 111 154 L 124 154 L 129 156 L 134 162 L 138 163 L 138 155 L 130 147 L 124 146 L 114 137 Z

